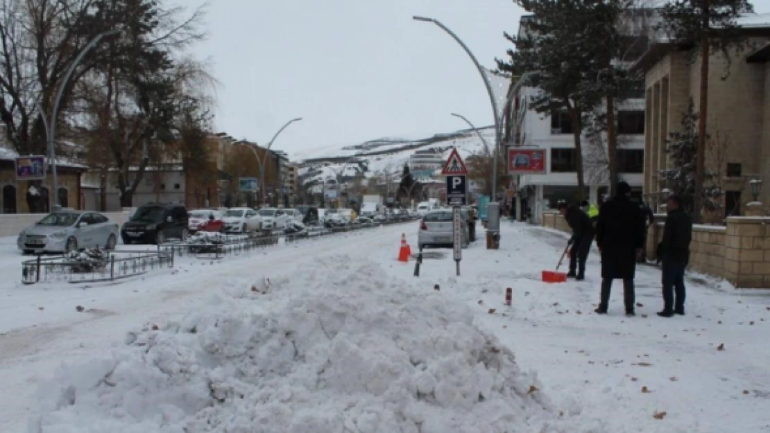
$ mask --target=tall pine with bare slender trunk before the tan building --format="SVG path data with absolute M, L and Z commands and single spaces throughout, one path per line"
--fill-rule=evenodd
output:
M 699 89 L 700 117 L 698 119 L 698 152 L 695 160 L 695 190 L 705 185 L 705 148 L 708 118 L 708 58 L 715 52 L 721 52 L 729 68 L 731 51 L 741 51 L 745 47 L 745 37 L 736 24 L 736 18 L 746 12 L 752 12 L 748 0 L 671 0 L 661 8 L 663 22 L 659 28 L 664 30 L 671 42 L 683 46 L 697 46 L 701 58 L 701 86 Z M 725 69 L 725 73 L 728 69 Z M 708 208 L 702 202 L 701 195 L 695 195 L 693 217 L 701 221 L 701 211 Z

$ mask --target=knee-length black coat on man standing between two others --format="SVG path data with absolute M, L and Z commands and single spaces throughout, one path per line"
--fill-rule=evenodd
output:
M 639 206 L 625 195 L 601 205 L 596 224 L 602 278 L 634 278 L 636 250 L 644 246 L 644 220 Z

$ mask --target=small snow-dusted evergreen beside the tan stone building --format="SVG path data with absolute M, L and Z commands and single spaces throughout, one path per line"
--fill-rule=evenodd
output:
M 695 162 L 700 151 L 698 143 L 701 142 L 698 134 L 699 117 L 695 112 L 695 104 L 690 99 L 688 109 L 681 118 L 681 131 L 669 133 L 666 140 L 666 153 L 671 161 L 671 168 L 661 170 L 660 180 L 668 191 L 681 196 L 688 210 L 692 211 L 695 204 L 700 202 L 705 210 L 711 212 L 721 207 L 724 192 L 719 186 L 718 173 L 715 172 L 705 171 L 706 185 L 701 188 L 695 183 Z M 700 191 L 700 194 L 696 195 L 696 191 Z

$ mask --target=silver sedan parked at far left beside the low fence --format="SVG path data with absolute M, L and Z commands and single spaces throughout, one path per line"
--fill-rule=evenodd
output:
M 22 230 L 16 245 L 23 254 L 78 251 L 82 248 L 114 249 L 119 227 L 98 212 L 52 212 Z

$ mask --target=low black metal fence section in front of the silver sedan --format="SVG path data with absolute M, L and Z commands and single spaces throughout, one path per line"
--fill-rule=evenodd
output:
M 173 251 L 112 251 L 103 259 L 89 261 L 39 255 L 22 262 L 22 283 L 115 281 L 173 267 Z

